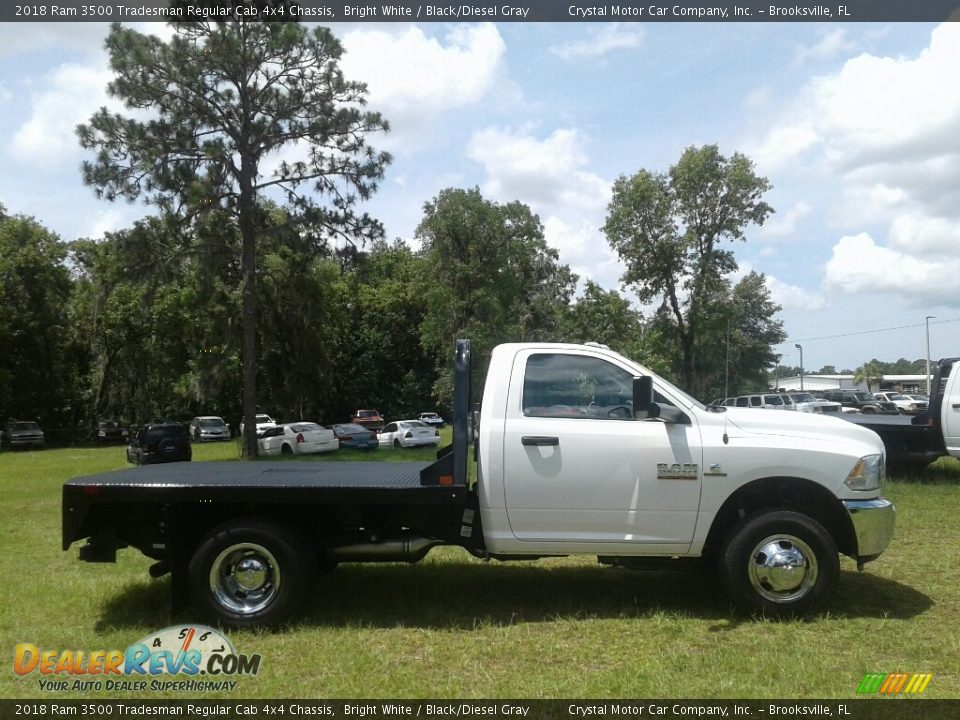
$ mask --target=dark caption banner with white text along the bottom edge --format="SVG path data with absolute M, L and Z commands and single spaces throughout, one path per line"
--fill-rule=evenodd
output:
M 960 717 L 960 700 L 0 700 L 0 720 L 65 717 L 952 720 Z

